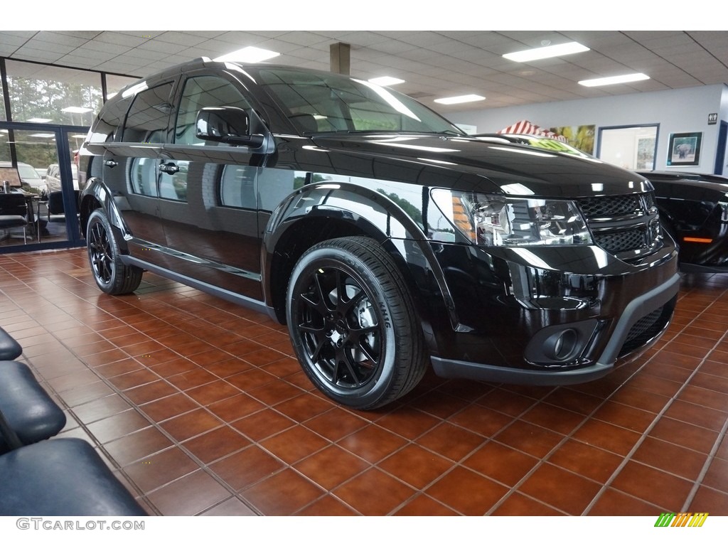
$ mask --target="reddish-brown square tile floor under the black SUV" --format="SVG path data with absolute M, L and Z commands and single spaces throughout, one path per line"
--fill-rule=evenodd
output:
M 572 387 L 431 374 L 399 403 L 322 397 L 268 317 L 146 274 L 100 293 L 82 249 L 0 255 L 0 325 L 158 515 L 728 515 L 728 274 Z

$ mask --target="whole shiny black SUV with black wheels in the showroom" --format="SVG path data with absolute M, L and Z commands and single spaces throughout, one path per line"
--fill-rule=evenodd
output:
M 673 313 L 676 248 L 645 178 L 478 141 L 354 77 L 194 60 L 109 100 L 80 154 L 101 290 L 149 270 L 267 312 L 354 408 L 404 395 L 430 362 L 596 379 Z

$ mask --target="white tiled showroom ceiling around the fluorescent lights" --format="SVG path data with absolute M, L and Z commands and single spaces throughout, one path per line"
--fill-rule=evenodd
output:
M 502 58 L 566 41 L 590 51 L 531 63 Z M 443 114 L 728 82 L 728 31 L 0 31 L 0 56 L 143 77 L 191 58 L 255 46 L 280 52 L 274 63 L 328 70 L 336 42 L 351 46 L 352 75 L 404 79 L 397 90 Z M 650 79 L 577 84 L 628 72 Z M 487 99 L 432 103 L 470 93 Z

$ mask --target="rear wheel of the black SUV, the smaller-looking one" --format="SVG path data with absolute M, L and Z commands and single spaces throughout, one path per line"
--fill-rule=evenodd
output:
M 118 296 L 139 288 L 143 270 L 122 262 L 119 242 L 101 209 L 89 216 L 86 245 L 93 278 L 102 292 Z

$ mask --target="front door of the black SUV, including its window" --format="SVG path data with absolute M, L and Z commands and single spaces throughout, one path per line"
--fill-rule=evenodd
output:
M 220 76 L 189 77 L 175 119 L 173 143 L 161 151 L 159 215 L 173 269 L 195 280 L 261 299 L 256 221 L 255 154 L 245 147 L 199 140 L 197 111 L 207 106 L 250 108 Z

